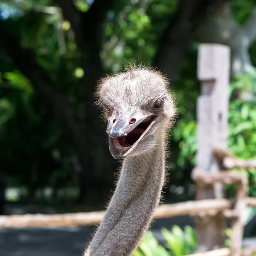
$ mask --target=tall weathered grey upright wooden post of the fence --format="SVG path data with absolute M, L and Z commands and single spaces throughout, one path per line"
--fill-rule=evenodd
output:
M 201 96 L 197 102 L 197 167 L 206 173 L 221 170 L 213 148 L 227 148 L 230 49 L 219 44 L 201 44 L 198 49 L 198 79 Z M 200 187 L 196 200 L 223 198 L 221 183 Z M 207 218 L 195 217 L 198 250 L 224 246 L 226 220 L 222 212 Z

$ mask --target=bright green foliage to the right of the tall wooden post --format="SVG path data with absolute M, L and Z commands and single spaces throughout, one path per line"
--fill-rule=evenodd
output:
M 239 76 L 230 84 L 230 96 L 235 90 L 244 92 L 253 90 L 255 80 L 247 75 Z M 256 155 L 256 99 L 230 101 L 229 138 L 230 150 L 241 158 L 252 158 Z M 249 195 L 256 196 L 256 169 L 239 169 L 249 178 Z

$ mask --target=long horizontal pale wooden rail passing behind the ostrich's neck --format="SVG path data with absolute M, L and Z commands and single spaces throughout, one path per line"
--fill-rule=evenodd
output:
M 231 202 L 227 199 L 206 199 L 201 201 L 187 201 L 177 204 L 162 204 L 154 218 L 168 218 L 177 215 L 215 215 L 224 209 L 230 209 Z M 0 216 L 0 227 L 56 227 L 99 224 L 105 211 L 79 212 L 65 214 L 25 214 Z

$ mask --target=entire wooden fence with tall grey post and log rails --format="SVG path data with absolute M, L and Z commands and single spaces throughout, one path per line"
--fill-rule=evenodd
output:
M 256 252 L 256 247 L 241 249 L 244 230 L 241 216 L 245 207 L 256 207 L 256 198 L 247 196 L 247 176 L 231 169 L 256 168 L 256 159 L 236 158 L 227 149 L 229 69 L 228 47 L 217 44 L 200 45 L 198 153 L 197 164 L 192 171 L 192 179 L 197 185 L 196 201 L 163 204 L 157 208 L 154 215 L 155 218 L 185 214 L 194 217 L 199 247 L 198 253 L 193 256 L 249 256 Z M 224 183 L 237 184 L 235 202 L 224 198 Z M 101 211 L 0 216 L 0 227 L 94 225 L 102 221 L 104 214 L 105 212 Z M 232 221 L 230 248 L 224 247 L 227 218 Z

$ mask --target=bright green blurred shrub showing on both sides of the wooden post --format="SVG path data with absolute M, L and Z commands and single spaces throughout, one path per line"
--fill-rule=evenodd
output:
M 241 158 L 256 156 L 256 99 L 245 101 L 240 98 L 232 99 L 235 91 L 243 93 L 253 90 L 256 81 L 251 76 L 238 76 L 230 84 L 229 105 L 229 134 L 228 147 Z M 196 143 L 196 120 L 180 119 L 173 131 L 173 139 L 179 142 L 179 154 L 177 165 L 182 166 L 186 160 L 195 164 Z M 249 178 L 249 194 L 256 196 L 256 169 L 243 171 Z

